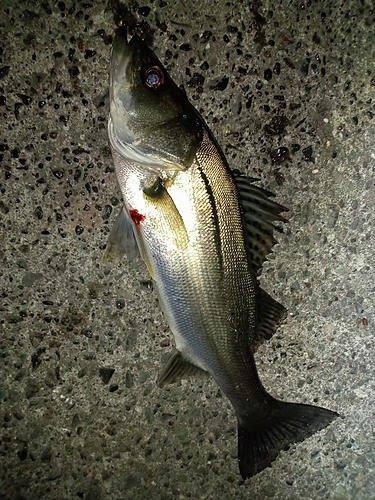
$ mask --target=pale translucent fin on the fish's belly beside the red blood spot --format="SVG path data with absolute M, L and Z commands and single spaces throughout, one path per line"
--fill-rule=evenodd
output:
M 128 260 L 139 257 L 133 224 L 125 208 L 118 214 L 109 233 L 107 248 L 103 254 L 103 262 L 119 262 L 126 255 Z

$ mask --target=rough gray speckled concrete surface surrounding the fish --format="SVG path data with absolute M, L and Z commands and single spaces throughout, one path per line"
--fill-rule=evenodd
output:
M 374 4 L 128 7 L 230 164 L 290 207 L 261 279 L 289 310 L 257 354 L 262 381 L 341 417 L 244 483 L 218 387 L 156 387 L 173 339 L 147 271 L 101 262 L 121 206 L 106 133 L 115 6 L 3 0 L 0 497 L 372 499 Z

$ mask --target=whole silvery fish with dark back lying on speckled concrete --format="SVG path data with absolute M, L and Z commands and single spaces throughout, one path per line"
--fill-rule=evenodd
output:
M 254 361 L 286 315 L 260 287 L 259 271 L 287 209 L 230 169 L 185 91 L 125 26 L 111 49 L 108 136 L 124 206 L 104 260 L 126 254 L 146 263 L 175 340 L 157 383 L 215 380 L 237 416 L 247 479 L 338 416 L 274 398 Z

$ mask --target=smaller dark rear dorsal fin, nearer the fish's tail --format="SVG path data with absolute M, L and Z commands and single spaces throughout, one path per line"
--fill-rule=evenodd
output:
M 286 316 L 284 306 L 260 287 L 257 288 L 257 331 L 251 345 L 252 350 L 270 339 Z

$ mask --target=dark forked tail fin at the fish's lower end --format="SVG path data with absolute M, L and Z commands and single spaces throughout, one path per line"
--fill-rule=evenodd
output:
M 318 406 L 277 400 L 273 403 L 270 417 L 260 424 L 246 424 L 239 419 L 238 461 L 243 479 L 269 467 L 280 451 L 323 429 L 338 416 Z

